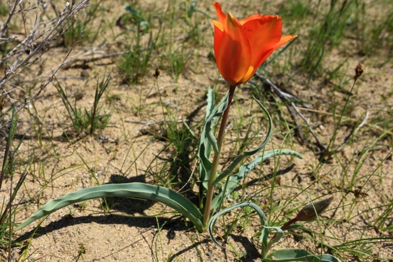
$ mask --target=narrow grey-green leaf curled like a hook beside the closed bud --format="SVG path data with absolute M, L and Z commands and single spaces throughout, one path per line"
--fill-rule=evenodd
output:
M 260 238 L 262 240 L 262 244 L 264 246 L 267 246 L 267 244 L 268 244 L 267 238 L 268 238 L 268 235 L 269 235 L 269 229 L 267 228 L 268 224 L 267 224 L 266 216 L 263 213 L 263 211 L 257 205 L 255 205 L 254 203 L 251 203 L 251 202 L 239 202 L 239 203 L 237 203 L 235 205 L 232 205 L 232 206 L 227 207 L 227 208 L 225 208 L 223 210 L 220 210 L 215 215 L 213 215 L 212 218 L 209 221 L 209 226 L 208 226 L 208 231 L 209 231 L 210 238 L 212 239 L 212 241 L 216 245 L 218 245 L 218 246 L 223 248 L 223 246 L 220 245 L 219 242 L 217 242 L 217 240 L 216 240 L 216 238 L 214 237 L 214 234 L 213 234 L 213 229 L 214 229 L 214 226 L 216 224 L 216 220 L 217 220 L 217 218 L 219 216 L 225 214 L 226 212 L 228 212 L 230 210 L 233 210 L 233 209 L 242 208 L 242 207 L 253 208 L 258 213 L 259 219 L 260 219 L 261 224 L 263 226 Z

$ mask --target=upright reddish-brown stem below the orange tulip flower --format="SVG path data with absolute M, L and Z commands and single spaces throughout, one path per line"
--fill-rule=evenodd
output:
M 219 163 L 220 154 L 221 154 L 221 146 L 223 144 L 223 139 L 224 139 L 225 127 L 226 127 L 226 123 L 228 122 L 230 104 L 232 102 L 233 94 L 235 93 L 235 88 L 236 88 L 236 86 L 234 86 L 234 85 L 229 86 L 228 106 L 226 107 L 226 109 L 223 113 L 223 118 L 221 119 L 220 130 L 218 132 L 218 137 L 217 137 L 218 153 L 214 154 L 214 158 L 213 158 L 213 162 L 212 162 L 212 168 L 210 171 L 209 183 L 208 183 L 208 187 L 207 187 L 205 212 L 203 214 L 203 227 L 204 227 L 204 229 L 207 228 L 207 223 L 209 223 L 209 220 L 210 220 L 211 205 L 212 205 L 213 194 L 214 194 L 213 182 L 214 182 L 214 179 L 216 178 L 218 163 Z

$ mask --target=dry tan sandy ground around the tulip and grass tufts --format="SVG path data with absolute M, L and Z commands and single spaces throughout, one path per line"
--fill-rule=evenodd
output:
M 230 7 L 226 6 L 228 9 Z M 106 8 L 106 21 L 111 23 L 118 18 L 118 10 L 123 12 L 120 3 L 106 3 Z M 206 8 L 206 11 L 214 15 L 212 8 Z M 206 21 L 207 23 L 209 21 Z M 118 26 L 113 28 L 115 33 L 122 30 Z M 206 30 L 203 37 L 212 41 L 212 32 L 212 28 Z M 118 45 L 122 39 L 117 40 Z M 118 51 L 116 43 L 106 42 L 99 46 L 101 41 L 98 38 L 92 43 L 92 47 L 106 53 Z M 72 53 L 73 57 L 83 57 L 92 47 L 78 47 Z M 41 64 L 45 69 L 52 68 L 58 62 L 53 57 L 64 57 L 66 52 L 67 49 L 64 47 L 51 48 Z M 34 102 L 36 111 L 30 108 L 20 113 L 18 134 L 26 134 L 27 138 L 19 150 L 19 156 L 26 160 L 34 150 L 34 159 L 31 163 L 23 165 L 28 167 L 29 175 L 25 188 L 17 197 L 17 201 L 26 200 L 20 205 L 17 220 L 23 221 L 37 210 L 38 206 L 50 200 L 80 188 L 93 186 L 97 182 L 159 182 L 160 178 L 156 177 L 155 172 L 160 170 L 165 164 L 165 157 L 170 156 L 172 152 L 172 149 L 167 148 L 168 142 L 165 139 L 154 137 L 164 132 L 160 121 L 185 120 L 193 114 L 189 125 L 197 125 L 204 116 L 206 89 L 216 86 L 219 96 L 226 92 L 225 83 L 217 80 L 218 72 L 214 62 L 208 58 L 209 52 L 211 50 L 207 46 L 195 51 L 194 57 L 197 58 L 193 58 L 190 64 L 197 62 L 197 66 L 190 66 L 177 82 L 173 81 L 165 69 L 162 69 L 158 79 L 155 79 L 153 74 L 157 65 L 153 63 L 149 67 L 151 74 L 140 79 L 140 83 L 125 84 L 116 71 L 115 62 L 118 57 L 86 63 L 77 61 L 70 63 L 67 69 L 61 70 L 57 74 L 59 83 L 67 89 L 72 101 L 79 96 L 77 105 L 87 108 L 93 103 L 96 78 L 101 79 L 105 69 L 112 72 L 106 96 L 116 96 L 117 99 L 111 103 L 103 100 L 104 107 L 112 112 L 111 124 L 92 136 L 77 135 L 72 137 L 71 141 L 64 140 L 62 132 L 64 129 L 70 130 L 67 127 L 69 120 L 66 118 L 66 110 L 56 88 L 52 85 L 49 85 Z M 330 52 L 325 66 L 328 67 L 331 61 L 337 61 L 341 56 L 339 52 Z M 342 144 L 344 138 L 358 123 L 356 121 L 364 119 L 366 112 L 369 113 L 369 119 L 388 117 L 389 113 L 385 110 L 391 110 L 393 105 L 392 96 L 386 95 L 392 91 L 392 63 L 377 67 L 375 59 L 349 57 L 343 66 L 345 72 L 342 78 L 348 80 L 345 88 L 350 89 L 350 79 L 354 76 L 354 68 L 359 62 L 364 64 L 365 73 L 356 84 L 350 99 L 351 110 L 347 116 L 352 120 L 346 118 L 338 127 L 335 146 Z M 31 76 L 26 77 L 34 76 L 33 68 L 29 72 Z M 330 105 L 343 105 L 347 95 L 337 89 L 332 91 L 334 82 L 326 83 L 322 79 L 314 79 L 307 85 L 307 79 L 301 74 L 288 83 L 286 79 L 287 76 L 270 78 L 282 90 L 289 90 L 299 99 L 310 102 L 309 109 L 299 106 L 309 119 L 313 130 L 318 133 L 319 139 L 326 143 L 337 123 L 337 116 L 332 115 Z M 238 133 L 235 127 L 236 118 L 240 117 L 240 114 L 248 117 L 255 114 L 262 117 L 255 103 L 252 103 L 251 93 L 252 90 L 247 86 L 236 90 L 233 106 L 235 109 L 231 113 L 232 119 L 228 124 L 224 142 L 224 159 L 230 157 L 236 147 L 233 142 Z M 163 104 L 172 115 L 163 111 Z M 266 100 L 264 104 L 269 110 L 277 111 L 273 100 Z M 283 117 L 289 121 L 290 115 L 286 107 L 280 108 Z M 38 116 L 46 129 L 39 130 L 31 126 L 31 119 Z M 278 117 L 274 118 L 277 120 Z M 150 125 L 152 122 L 156 124 Z M 302 120 L 299 119 L 299 122 L 304 125 Z M 263 126 L 264 123 L 260 125 Z M 313 229 L 324 236 L 323 241 L 329 245 L 392 236 L 392 230 L 379 231 L 376 224 L 372 223 L 383 213 L 382 207 L 392 203 L 393 199 L 391 134 L 375 142 L 382 130 L 389 128 L 392 126 L 383 127 L 367 122 L 361 129 L 363 132 L 351 143 L 344 145 L 336 156 L 328 159 L 317 173 L 312 172 L 319 164 L 315 154 L 315 140 L 309 131 L 304 130 L 309 143 L 300 143 L 298 137 L 284 142 L 284 148 L 292 147 L 304 155 L 303 159 L 281 157 L 279 164 L 277 159 L 267 162 L 260 170 L 250 174 L 245 181 L 246 190 L 240 193 L 245 197 L 253 195 L 253 201 L 269 214 L 268 189 L 272 183 L 271 176 L 277 168 L 277 178 L 280 182 L 275 181 L 277 187 L 273 199 L 276 201 L 283 200 L 285 204 L 287 199 L 296 197 L 296 202 L 306 203 L 308 194 L 311 198 L 335 196 L 331 209 L 323 215 L 323 218 L 327 219 L 326 223 L 320 226 L 318 222 L 305 224 L 305 228 Z M 197 135 L 198 130 L 195 131 Z M 241 135 L 246 131 L 242 129 Z M 37 139 L 39 133 L 42 139 Z M 275 127 L 268 148 L 280 147 L 282 138 L 282 129 Z M 249 147 L 253 148 L 262 139 L 263 137 L 255 138 Z M 370 150 L 362 157 L 358 157 L 360 152 L 368 147 Z M 193 161 L 190 166 L 193 167 L 195 164 Z M 348 180 L 357 169 L 360 170 L 355 178 L 356 187 L 348 188 Z M 1 196 L 7 197 L 9 186 L 9 182 L 3 184 Z M 367 195 L 364 198 L 356 198 L 348 192 L 355 189 L 361 189 Z M 294 208 L 292 205 L 295 203 L 289 205 Z M 104 212 L 105 210 L 108 212 Z M 13 250 L 13 260 L 18 261 L 22 258 L 27 261 L 45 262 L 260 261 L 260 243 L 258 237 L 254 236 L 260 230 L 260 224 L 255 216 L 250 219 L 247 227 L 234 230 L 227 240 L 226 249 L 221 249 L 211 242 L 208 234 L 197 233 L 190 223 L 185 223 L 183 218 L 171 211 L 173 210 L 159 203 L 129 199 L 109 199 L 107 203 L 103 200 L 91 200 L 81 205 L 71 205 L 49 215 L 41 224 L 35 222 L 23 231 L 17 232 L 16 237 L 20 241 L 25 241 L 25 246 Z M 158 213 L 162 214 L 138 218 Z M 234 214 L 228 215 L 227 220 L 231 221 L 233 216 Z M 272 212 L 271 216 L 280 221 L 285 214 L 277 210 Z M 392 225 L 392 216 L 389 215 L 384 223 L 385 227 Z M 220 235 L 222 230 L 220 225 L 217 227 L 217 234 Z M 32 234 L 33 237 L 30 238 Z M 330 239 L 329 236 L 335 236 L 336 240 Z M 320 236 L 313 237 L 320 239 Z M 273 250 L 289 247 L 320 252 L 320 244 L 311 241 L 309 233 L 302 230 L 284 236 Z M 23 250 L 26 248 L 28 255 L 23 257 Z M 375 256 L 393 258 L 392 240 L 365 245 L 364 248 L 371 248 Z M 328 250 L 325 248 L 324 251 Z M 3 258 L 4 256 L 5 251 Z M 347 261 L 355 260 L 348 257 Z

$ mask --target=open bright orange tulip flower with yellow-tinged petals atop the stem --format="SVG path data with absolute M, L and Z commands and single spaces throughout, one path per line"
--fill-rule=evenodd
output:
M 230 85 L 247 82 L 273 51 L 296 37 L 282 36 L 279 16 L 255 14 L 239 21 L 230 13 L 225 15 L 220 3 L 213 5 L 219 19 L 212 20 L 216 63 Z

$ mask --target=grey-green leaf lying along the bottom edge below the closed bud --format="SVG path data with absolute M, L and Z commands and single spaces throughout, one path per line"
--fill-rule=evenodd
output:
M 274 259 L 271 259 L 274 257 Z M 281 249 L 274 251 L 265 258 L 263 262 L 289 262 L 289 261 L 305 261 L 305 262 L 338 262 L 337 258 L 329 254 L 313 255 L 304 249 Z

